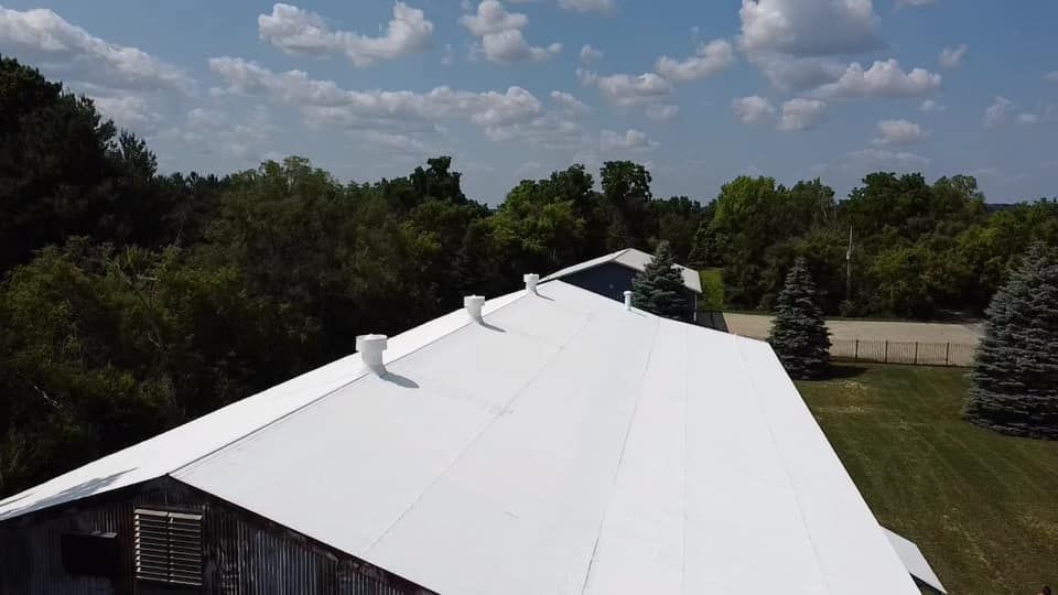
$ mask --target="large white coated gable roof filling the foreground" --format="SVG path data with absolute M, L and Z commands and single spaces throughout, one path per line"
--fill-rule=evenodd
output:
M 770 347 L 563 282 L 0 502 L 172 477 L 441 593 L 915 595 Z

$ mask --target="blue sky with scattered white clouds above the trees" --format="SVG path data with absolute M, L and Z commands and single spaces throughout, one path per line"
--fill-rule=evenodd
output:
M 1054 0 L 0 0 L 0 54 L 96 99 L 165 171 L 452 154 L 474 198 L 580 162 L 659 196 L 738 174 L 978 176 L 1058 195 Z

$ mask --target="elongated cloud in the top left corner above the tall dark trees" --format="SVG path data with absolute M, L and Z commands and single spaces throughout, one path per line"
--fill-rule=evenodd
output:
M 182 68 L 90 35 L 47 9 L 22 12 L 0 7 L 0 53 L 37 63 L 74 87 L 90 85 L 104 94 L 168 89 L 193 95 L 196 87 Z

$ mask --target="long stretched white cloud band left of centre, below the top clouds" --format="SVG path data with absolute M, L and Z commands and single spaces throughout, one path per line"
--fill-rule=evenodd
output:
M 458 117 L 482 128 L 509 126 L 531 120 L 541 112 L 540 101 L 521 87 L 506 91 L 473 93 L 436 87 L 427 93 L 408 90 L 348 90 L 333 80 L 309 78 L 302 71 L 273 73 L 236 57 L 209 60 L 209 68 L 226 87 L 219 94 L 258 95 L 298 106 L 310 121 L 349 127 L 379 121 L 434 122 Z

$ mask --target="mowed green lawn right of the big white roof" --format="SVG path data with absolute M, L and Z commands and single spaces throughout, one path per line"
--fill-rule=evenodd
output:
M 878 521 L 953 595 L 1058 586 L 1058 442 L 960 415 L 965 370 L 839 366 L 798 388 Z

